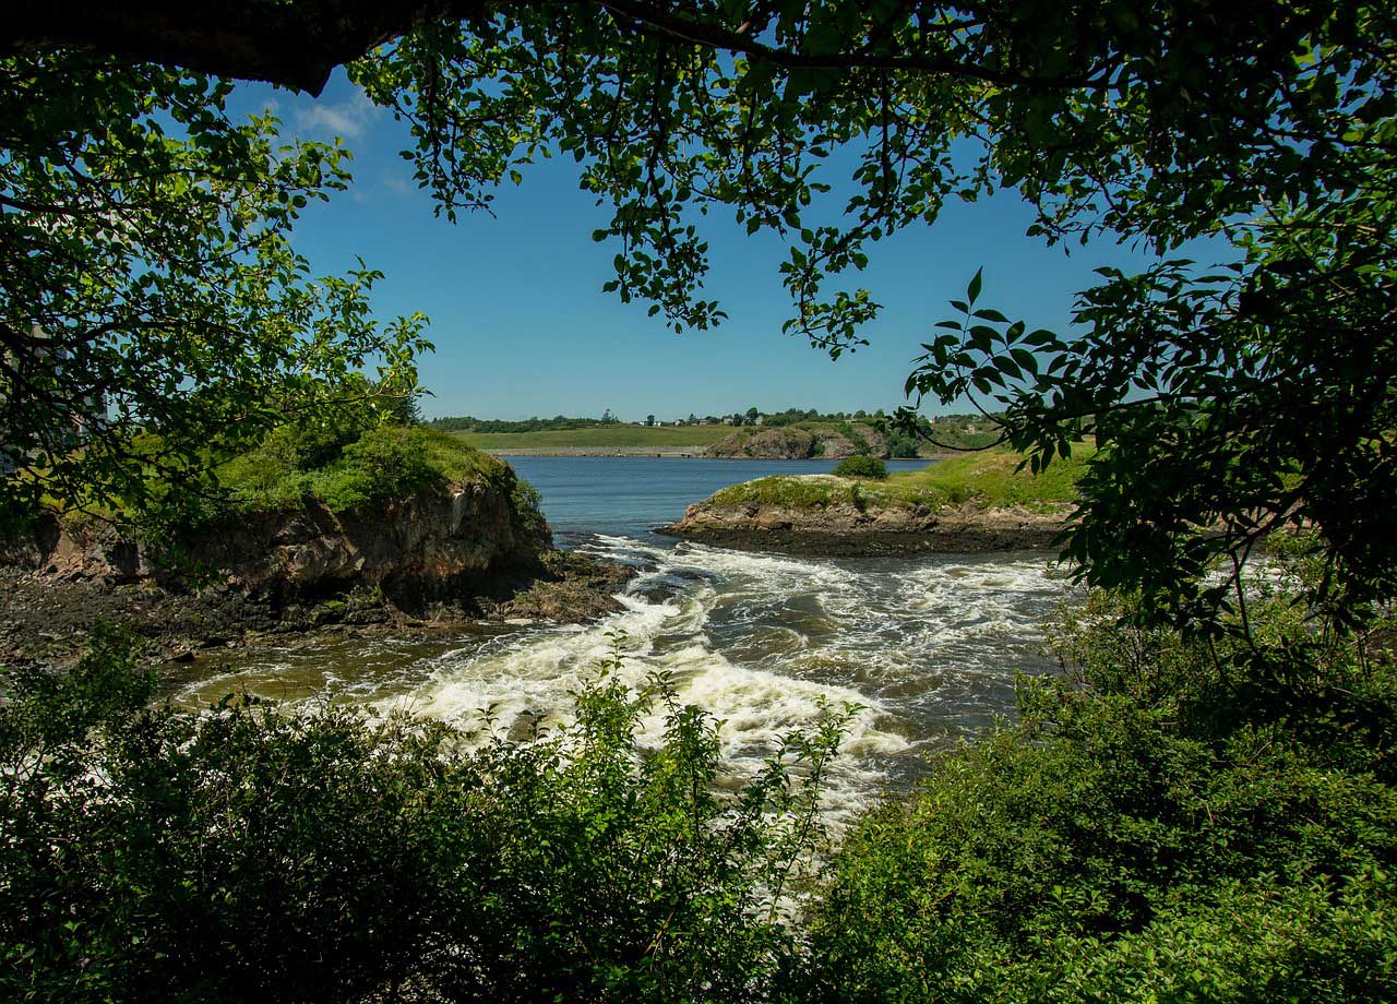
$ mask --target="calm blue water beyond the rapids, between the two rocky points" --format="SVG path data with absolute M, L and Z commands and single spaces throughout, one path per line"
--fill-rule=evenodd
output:
M 768 475 L 826 475 L 838 461 L 728 461 L 687 457 L 506 457 L 543 496 L 559 543 L 581 536 L 648 536 L 718 489 Z M 888 461 L 916 471 L 929 461 Z M 933 461 L 932 461 L 933 462 Z

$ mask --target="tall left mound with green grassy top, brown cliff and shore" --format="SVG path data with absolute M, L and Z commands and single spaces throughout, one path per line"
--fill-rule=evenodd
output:
M 99 623 L 187 658 L 272 631 L 578 620 L 631 574 L 556 552 L 528 482 L 432 429 L 285 426 L 219 464 L 215 492 L 176 505 L 154 465 L 149 482 L 140 511 L 18 519 L 0 651 L 66 660 Z

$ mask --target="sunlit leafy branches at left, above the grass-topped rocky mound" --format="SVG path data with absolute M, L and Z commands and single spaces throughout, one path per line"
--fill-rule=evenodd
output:
M 369 366 L 384 415 L 411 398 L 425 318 L 380 324 L 379 272 L 312 278 L 288 239 L 346 152 L 235 121 L 229 94 L 80 52 L 0 61 L 4 508 L 168 504 L 152 471 L 196 496 L 211 455 L 362 404 Z

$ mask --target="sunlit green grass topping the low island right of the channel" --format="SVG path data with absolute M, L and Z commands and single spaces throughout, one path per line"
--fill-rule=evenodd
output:
M 1066 461 L 1055 461 L 1046 472 L 1031 475 L 1018 471 L 1020 457 L 1011 452 L 967 454 L 930 464 L 921 471 L 890 475 L 886 482 L 870 483 L 834 478 L 831 475 L 805 478 L 761 478 L 733 485 L 714 493 L 719 505 L 781 505 L 784 508 L 812 508 L 855 504 L 883 507 L 930 505 L 942 508 L 977 503 L 985 508 L 1023 505 L 1051 510 L 1077 497 L 1077 478 L 1094 447 L 1080 445 Z

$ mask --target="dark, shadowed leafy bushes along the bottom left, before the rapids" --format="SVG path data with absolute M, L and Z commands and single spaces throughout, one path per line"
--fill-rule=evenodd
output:
M 717 725 L 619 656 L 510 743 L 346 707 L 149 708 L 103 634 L 0 707 L 0 1000 L 742 1001 L 798 944 L 842 723 L 740 790 Z M 657 748 L 636 739 L 665 721 Z

